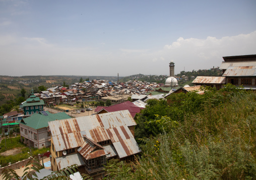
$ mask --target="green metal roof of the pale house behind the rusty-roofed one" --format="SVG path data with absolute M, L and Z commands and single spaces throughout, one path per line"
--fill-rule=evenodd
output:
M 26 126 L 29 126 L 34 129 L 40 129 L 43 127 L 48 127 L 48 122 L 54 121 L 54 120 L 60 120 L 60 119 L 69 119 L 71 118 L 68 114 L 65 112 L 59 112 L 56 114 L 51 114 L 48 111 L 45 111 L 48 116 L 45 116 L 41 113 L 33 114 L 30 117 L 24 118 L 21 120 L 20 124 L 24 124 Z

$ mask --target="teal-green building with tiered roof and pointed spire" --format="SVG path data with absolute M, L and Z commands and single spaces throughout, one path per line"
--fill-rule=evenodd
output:
M 24 115 L 32 115 L 43 111 L 44 102 L 39 97 L 34 95 L 34 90 L 31 90 L 30 97 L 22 104 Z

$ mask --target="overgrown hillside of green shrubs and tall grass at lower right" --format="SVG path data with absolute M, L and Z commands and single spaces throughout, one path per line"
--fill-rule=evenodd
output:
M 256 178 L 256 93 L 230 84 L 204 90 L 149 101 L 136 120 L 143 152 L 133 179 Z

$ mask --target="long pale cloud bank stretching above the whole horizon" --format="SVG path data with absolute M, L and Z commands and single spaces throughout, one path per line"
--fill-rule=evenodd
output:
M 158 49 L 111 49 L 54 44 L 44 37 L 0 36 L 0 75 L 168 75 L 220 66 L 223 56 L 256 54 L 256 31 L 216 38 L 178 38 Z M 11 68 L 9 68 L 11 67 Z M 27 71 L 29 69 L 29 71 Z

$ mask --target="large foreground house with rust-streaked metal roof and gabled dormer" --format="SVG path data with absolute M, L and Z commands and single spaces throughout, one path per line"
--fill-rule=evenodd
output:
M 134 138 L 136 122 L 128 110 L 48 122 L 51 166 L 59 170 L 78 164 L 95 179 L 104 177 L 107 159 L 132 161 L 141 152 Z

